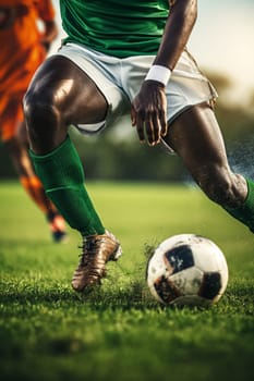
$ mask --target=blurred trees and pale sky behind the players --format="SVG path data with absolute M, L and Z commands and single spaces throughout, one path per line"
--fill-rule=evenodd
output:
M 59 1 L 53 0 L 61 44 Z M 232 168 L 254 176 L 254 0 L 198 1 L 198 19 L 189 50 L 219 93 L 216 114 Z M 71 131 L 85 167 L 86 179 L 131 181 L 190 181 L 181 161 L 165 160 L 160 147 L 141 145 L 130 120 L 97 137 Z M 4 147 L 0 146 L 0 179 L 16 177 Z

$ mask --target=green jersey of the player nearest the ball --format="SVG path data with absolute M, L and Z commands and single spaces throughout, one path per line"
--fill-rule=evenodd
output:
M 168 0 L 60 0 L 64 42 L 125 58 L 156 54 Z

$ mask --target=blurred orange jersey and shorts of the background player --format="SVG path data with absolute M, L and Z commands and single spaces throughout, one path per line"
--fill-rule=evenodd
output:
M 22 98 L 46 58 L 38 20 L 52 21 L 50 0 L 0 0 L 0 137 L 13 135 L 22 120 Z M 16 103 L 16 107 L 15 107 Z

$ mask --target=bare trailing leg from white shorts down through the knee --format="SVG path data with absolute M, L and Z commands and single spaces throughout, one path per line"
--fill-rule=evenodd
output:
M 211 200 L 232 208 L 242 205 L 247 193 L 245 180 L 230 170 L 220 128 L 207 103 L 178 116 L 165 140 Z

